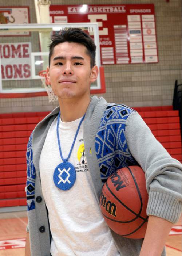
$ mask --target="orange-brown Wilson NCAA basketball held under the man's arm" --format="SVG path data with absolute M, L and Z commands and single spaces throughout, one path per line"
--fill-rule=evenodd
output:
M 100 208 L 107 225 L 123 237 L 144 238 L 147 228 L 148 193 L 145 173 L 139 166 L 112 174 L 102 188 Z

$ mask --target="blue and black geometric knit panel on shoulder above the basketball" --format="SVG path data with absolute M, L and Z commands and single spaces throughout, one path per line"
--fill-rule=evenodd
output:
M 102 182 L 117 169 L 136 163 L 125 138 L 126 120 L 132 112 L 135 111 L 124 105 L 108 106 L 104 112 L 95 138 Z

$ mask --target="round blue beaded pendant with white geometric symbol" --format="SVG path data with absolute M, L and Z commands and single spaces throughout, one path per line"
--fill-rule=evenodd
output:
M 76 172 L 69 162 L 58 164 L 53 175 L 54 184 L 61 190 L 69 190 L 75 183 Z

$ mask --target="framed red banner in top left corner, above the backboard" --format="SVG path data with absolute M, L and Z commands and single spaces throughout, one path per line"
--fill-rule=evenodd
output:
M 0 24 L 27 24 L 29 22 L 29 7 L 24 6 L 4 6 L 0 7 Z M 0 36 L 7 36 L 0 32 Z M 30 35 L 29 32 L 9 32 L 8 36 Z

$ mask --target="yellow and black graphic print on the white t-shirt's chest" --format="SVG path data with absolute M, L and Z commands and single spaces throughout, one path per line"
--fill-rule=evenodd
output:
M 79 140 L 83 141 L 83 139 Z M 87 165 L 87 159 L 85 155 L 85 146 L 84 143 L 79 146 L 79 149 L 77 151 L 77 158 L 79 163 L 75 166 L 76 172 L 88 172 L 88 165 Z

